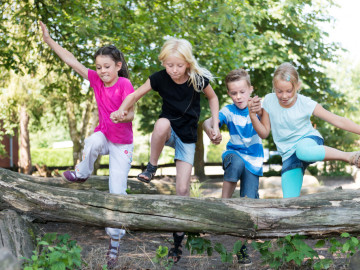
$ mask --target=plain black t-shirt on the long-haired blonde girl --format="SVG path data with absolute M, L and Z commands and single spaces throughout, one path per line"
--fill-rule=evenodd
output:
M 197 126 L 200 117 L 200 93 L 192 84 L 175 83 L 166 70 L 155 72 L 150 77 L 151 88 L 163 99 L 162 112 L 159 118 L 170 120 L 171 127 L 184 143 L 197 141 Z M 204 90 L 209 80 L 204 78 Z

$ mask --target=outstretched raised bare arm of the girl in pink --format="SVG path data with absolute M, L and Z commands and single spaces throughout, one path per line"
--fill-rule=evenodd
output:
M 75 56 L 68 50 L 57 44 L 49 35 L 45 24 L 40 21 L 41 30 L 43 32 L 44 41 L 50 46 L 51 49 L 63 60 L 67 65 L 74 69 L 81 77 L 88 79 L 88 69 L 81 64 Z

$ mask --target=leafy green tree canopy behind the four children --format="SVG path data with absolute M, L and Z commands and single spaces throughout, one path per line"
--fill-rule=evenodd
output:
M 157 60 L 160 48 L 167 37 L 176 36 L 188 39 L 200 64 L 216 76 L 212 86 L 221 106 L 229 101 L 223 79 L 230 70 L 246 68 L 256 94 L 263 96 L 271 91 L 271 75 L 275 67 L 284 61 L 291 61 L 298 68 L 306 95 L 320 103 L 344 104 L 343 97 L 337 97 L 331 89 L 323 69 L 324 62 L 336 59 L 337 46 L 324 42 L 323 36 L 327 34 L 318 26 L 319 22 L 331 21 L 327 10 L 333 4 L 332 0 L 57 0 L 51 1 L 51 5 L 47 0 L 21 1 L 22 4 L 11 0 L 10 3 L 15 8 L 8 20 L 36 29 L 31 34 L 32 38 L 36 35 L 38 38 L 35 45 L 39 51 L 38 60 L 48 65 L 47 76 L 57 76 L 44 91 L 56 96 L 54 108 L 67 111 L 74 152 L 80 151 L 80 138 L 83 138 L 87 123 L 87 118 L 82 116 L 91 110 L 79 104 L 91 100 L 91 91 L 82 91 L 82 78 L 39 41 L 37 19 L 47 24 L 54 40 L 89 68 L 93 67 L 91 54 L 97 47 L 106 43 L 118 46 L 127 59 L 135 88 L 162 68 Z M 19 44 L 29 35 L 25 29 L 20 29 Z M 5 36 L 9 34 L 7 29 L 4 31 Z M 7 44 L 7 39 L 0 36 L 0 42 Z M 0 50 L 4 51 L 6 66 L 16 68 L 10 56 L 19 55 L 29 48 L 24 46 L 19 51 L 10 51 L 3 44 Z M 152 131 L 161 108 L 160 102 L 153 92 L 139 102 L 137 117 L 140 118 L 139 128 L 144 133 Z M 201 106 L 200 124 L 210 116 L 204 97 Z M 322 122 L 314 123 L 320 129 L 324 126 Z M 198 134 L 195 171 L 202 175 L 203 133 L 199 130 Z M 75 156 L 74 153 L 74 160 Z

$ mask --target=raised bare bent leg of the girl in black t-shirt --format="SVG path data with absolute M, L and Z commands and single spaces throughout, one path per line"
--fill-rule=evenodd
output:
M 165 142 L 169 140 L 170 135 L 170 121 L 166 118 L 158 119 L 151 135 L 150 163 L 152 165 L 156 166 L 158 164 L 160 154 L 164 148 Z

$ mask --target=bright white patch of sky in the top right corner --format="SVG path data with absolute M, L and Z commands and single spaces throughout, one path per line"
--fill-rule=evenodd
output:
M 334 28 L 326 28 L 330 40 L 340 42 L 354 60 L 360 61 L 360 1 L 337 0 L 340 7 L 333 7 L 330 14 L 336 19 Z

